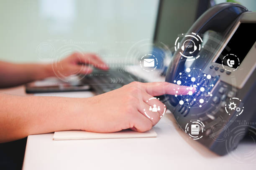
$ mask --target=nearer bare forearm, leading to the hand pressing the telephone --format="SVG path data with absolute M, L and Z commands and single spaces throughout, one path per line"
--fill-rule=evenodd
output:
M 84 110 L 78 100 L 86 99 L 0 94 L 0 143 L 31 134 L 84 129 Z

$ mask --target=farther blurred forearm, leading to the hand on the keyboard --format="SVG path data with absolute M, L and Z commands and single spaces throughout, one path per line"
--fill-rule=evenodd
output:
M 0 62 L 0 87 L 21 85 L 54 76 L 51 65 Z

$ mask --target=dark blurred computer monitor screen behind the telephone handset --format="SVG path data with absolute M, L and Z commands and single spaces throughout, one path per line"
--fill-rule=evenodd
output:
M 187 32 L 212 5 L 211 0 L 159 0 L 154 43 L 173 47 L 177 36 Z

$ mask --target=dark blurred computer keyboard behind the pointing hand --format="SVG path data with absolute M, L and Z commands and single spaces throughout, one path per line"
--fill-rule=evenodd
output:
M 118 89 L 133 81 L 146 82 L 146 80 L 125 71 L 123 68 L 115 68 L 107 71 L 93 70 L 91 74 L 86 75 L 81 80 L 83 84 L 90 85 L 97 94 Z

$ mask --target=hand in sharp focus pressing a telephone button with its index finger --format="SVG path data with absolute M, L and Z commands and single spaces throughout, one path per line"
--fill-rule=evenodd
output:
M 84 115 L 82 130 L 99 133 L 117 132 L 129 128 L 138 132 L 148 131 L 159 122 L 162 113 L 148 112 L 153 118 L 149 119 L 143 109 L 149 108 L 153 103 L 146 100 L 164 94 L 174 95 L 174 87 L 184 89 L 179 90 L 179 94 L 187 94 L 186 87 L 181 88 L 169 82 L 131 82 L 119 89 L 87 98 L 86 108 L 82 107 L 80 110 Z M 160 110 L 164 110 L 164 104 L 159 100 L 154 104 L 160 106 Z

